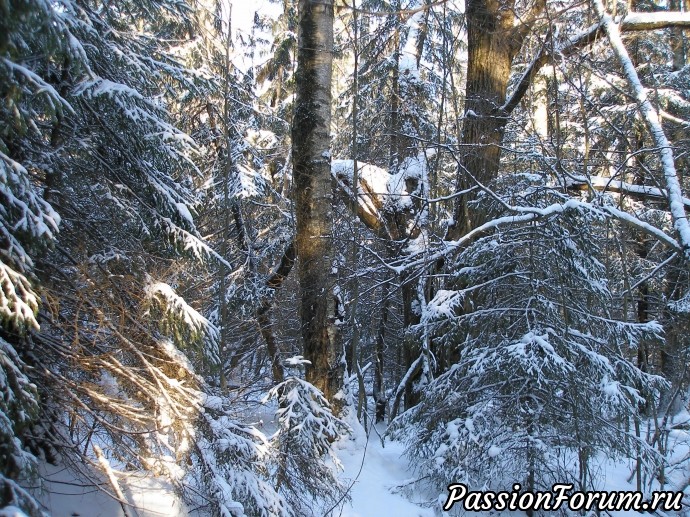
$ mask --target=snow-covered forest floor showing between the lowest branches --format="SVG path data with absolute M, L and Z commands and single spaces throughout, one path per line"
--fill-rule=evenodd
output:
M 680 423 L 680 425 L 678 425 Z M 671 465 L 667 470 L 669 483 L 665 490 L 673 490 L 689 479 L 686 467 L 690 457 L 690 432 L 686 430 L 690 415 L 684 413 L 674 418 L 667 446 L 673 451 Z M 380 435 L 385 431 L 381 423 L 367 436 L 361 426 L 355 424 L 353 436 L 343 438 L 336 444 L 336 452 L 343 470 L 340 479 L 348 488 L 350 500 L 338 504 L 331 517 L 434 517 L 439 515 L 446 493 L 422 494 L 410 490 L 415 473 L 408 458 L 403 454 L 404 445 L 386 440 L 382 444 Z M 673 466 L 673 463 L 676 463 Z M 635 490 L 634 481 L 628 482 L 633 465 L 611 460 L 599 462 L 594 475 L 600 480 L 603 490 Z M 96 489 L 83 476 L 76 476 L 64 468 L 50 465 L 41 468 L 44 491 L 41 497 L 53 517 L 121 517 L 124 515 L 119 503 Z M 451 482 L 450 480 L 449 482 Z M 169 486 L 155 478 L 136 476 L 123 483 L 125 495 L 138 517 L 203 517 L 204 514 L 189 511 L 172 493 Z M 655 487 L 658 490 L 658 486 Z M 436 502 L 438 501 L 438 502 Z M 686 497 L 687 501 L 687 497 Z M 435 509 L 430 507 L 434 503 Z M 523 516 L 522 512 L 494 512 L 493 515 Z M 472 513 L 483 517 L 488 513 Z M 612 517 L 639 515 L 637 512 L 611 512 Z M 671 515 L 657 512 L 656 515 Z M 674 514 L 675 515 L 675 514 Z

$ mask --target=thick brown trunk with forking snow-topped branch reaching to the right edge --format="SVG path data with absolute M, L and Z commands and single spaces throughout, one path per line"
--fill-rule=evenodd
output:
M 518 106 L 539 70 L 558 56 L 570 56 L 604 35 L 599 22 L 574 38 L 557 45 L 555 51 L 546 46 L 535 57 L 506 97 L 512 62 L 525 37 L 545 8 L 538 0 L 516 22 L 514 0 L 468 0 L 466 8 L 468 31 L 467 86 L 465 92 L 464 130 L 458 167 L 457 191 L 475 185 L 475 180 L 488 183 L 498 175 L 501 144 L 508 117 Z M 621 20 L 621 32 L 648 31 L 663 28 L 690 27 L 690 13 L 628 13 Z M 468 209 L 472 195 L 460 196 L 454 208 L 454 224 L 447 237 L 457 240 L 482 224 L 479 211 Z

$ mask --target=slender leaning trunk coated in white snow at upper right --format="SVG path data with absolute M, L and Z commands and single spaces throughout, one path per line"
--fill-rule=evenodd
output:
M 675 161 L 673 158 L 673 150 L 671 143 L 666 138 L 664 128 L 661 125 L 659 114 L 656 112 L 652 103 L 647 96 L 647 91 L 642 86 L 640 78 L 637 75 L 635 66 L 633 65 L 628 51 L 623 44 L 621 33 L 618 25 L 613 21 L 611 15 L 606 12 L 601 0 L 593 0 L 594 9 L 597 16 L 601 19 L 601 25 L 604 27 L 606 36 L 611 43 L 611 48 L 618 58 L 628 85 L 632 90 L 633 96 L 637 100 L 638 109 L 644 118 L 644 121 L 649 129 L 650 134 L 654 140 L 654 144 L 659 149 L 661 158 L 661 167 L 664 173 L 664 181 L 666 183 L 666 194 L 668 196 L 668 205 L 673 220 L 673 228 L 678 236 L 678 243 L 683 250 L 685 260 L 690 261 L 690 225 L 685 215 L 685 205 L 683 203 L 683 192 L 678 181 L 678 174 L 676 173 Z

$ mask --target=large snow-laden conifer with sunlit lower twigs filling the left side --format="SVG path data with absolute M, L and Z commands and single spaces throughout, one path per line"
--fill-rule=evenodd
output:
M 200 11 L 16 5 L 0 20 L 3 503 L 37 514 L 18 483 L 27 446 L 50 444 L 60 456 L 46 460 L 107 465 L 111 485 L 147 471 L 212 494 L 219 513 L 284 514 L 261 433 L 237 407 L 207 407 L 195 370 L 218 362 L 218 330 L 180 295 L 200 261 L 230 265 L 200 236 L 202 150 L 177 123 L 217 87 L 206 64 L 186 66 L 212 37 Z

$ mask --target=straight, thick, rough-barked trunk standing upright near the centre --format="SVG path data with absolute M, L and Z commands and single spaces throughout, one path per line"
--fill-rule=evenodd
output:
M 292 125 L 299 281 L 306 377 L 335 402 L 343 383 L 332 296 L 330 173 L 333 1 L 300 0 Z

